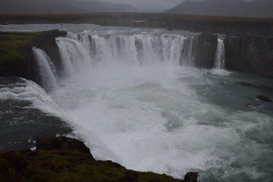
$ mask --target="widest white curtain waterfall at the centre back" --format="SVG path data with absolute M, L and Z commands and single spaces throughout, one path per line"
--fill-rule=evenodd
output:
M 193 66 L 197 37 L 152 34 L 94 34 L 57 39 L 68 72 L 97 62 L 148 65 L 165 62 Z

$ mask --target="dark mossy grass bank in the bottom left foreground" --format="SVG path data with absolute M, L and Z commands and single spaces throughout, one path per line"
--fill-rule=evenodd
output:
M 165 174 L 127 170 L 112 161 L 96 161 L 77 150 L 0 152 L 0 181 L 178 182 Z

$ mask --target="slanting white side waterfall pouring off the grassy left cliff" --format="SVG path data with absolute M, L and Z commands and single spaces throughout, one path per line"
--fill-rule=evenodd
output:
M 49 56 L 45 53 L 45 51 L 37 49 L 36 47 L 33 47 L 32 51 L 38 66 L 38 73 L 41 80 L 41 86 L 46 91 L 58 88 L 59 86 L 56 80 L 57 78 L 56 69 L 53 63 L 51 62 Z

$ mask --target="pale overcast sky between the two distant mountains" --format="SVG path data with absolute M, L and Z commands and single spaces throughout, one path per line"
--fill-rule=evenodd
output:
M 177 6 L 184 0 L 98 0 L 102 2 L 130 4 L 139 10 L 167 10 Z

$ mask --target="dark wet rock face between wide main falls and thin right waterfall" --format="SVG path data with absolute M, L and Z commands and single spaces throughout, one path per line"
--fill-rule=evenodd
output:
M 195 57 L 196 67 L 213 68 L 217 44 L 217 36 L 209 33 L 203 33 L 202 35 L 198 35 L 198 43 Z

